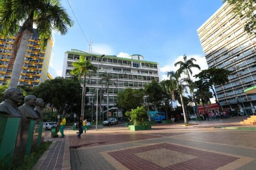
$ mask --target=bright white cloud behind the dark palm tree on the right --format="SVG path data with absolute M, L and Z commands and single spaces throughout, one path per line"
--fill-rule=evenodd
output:
M 201 67 L 201 70 L 205 70 L 205 69 L 208 68 L 208 65 L 207 65 L 205 57 L 202 57 L 200 55 L 188 55 L 187 56 L 188 59 L 191 58 L 191 57 L 193 57 L 193 58 L 195 58 L 197 60 L 194 63 L 198 64 Z M 174 66 L 174 64 L 176 62 L 178 62 L 178 61 L 183 61 L 183 56 L 177 57 L 175 61 L 171 62 L 170 64 L 166 64 L 164 67 L 160 67 L 160 72 L 163 73 L 162 80 L 166 80 L 167 79 L 166 72 L 177 71 L 178 70 L 179 66 L 176 66 L 176 67 Z M 197 68 L 192 68 L 192 72 L 193 72 L 193 74 L 192 74 L 191 78 L 195 79 L 195 77 L 193 77 L 193 76 L 198 74 L 200 72 L 200 70 L 198 70 Z

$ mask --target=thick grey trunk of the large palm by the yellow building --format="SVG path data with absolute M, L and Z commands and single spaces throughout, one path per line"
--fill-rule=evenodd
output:
M 27 29 L 24 30 L 21 36 L 21 43 L 20 43 L 20 46 L 18 47 L 15 62 L 12 68 L 11 81 L 10 81 L 9 88 L 16 88 L 18 85 L 22 67 L 24 66 L 24 59 L 27 53 L 26 51 L 27 44 L 29 43 L 30 37 L 31 37 L 31 32 Z

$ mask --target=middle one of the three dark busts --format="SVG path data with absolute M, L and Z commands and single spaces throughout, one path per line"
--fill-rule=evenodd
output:
M 34 95 L 27 95 L 24 98 L 24 104 L 22 106 L 19 107 L 19 110 L 21 111 L 21 113 L 27 117 L 27 118 L 33 118 L 33 119 L 37 119 L 39 118 L 36 111 L 34 111 L 34 107 L 36 105 L 37 102 L 37 97 Z

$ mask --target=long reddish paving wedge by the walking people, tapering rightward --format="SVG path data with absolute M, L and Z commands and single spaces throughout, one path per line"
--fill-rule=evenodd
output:
M 117 144 L 123 142 L 131 142 L 135 140 L 161 138 L 161 136 L 150 134 L 82 134 L 81 139 L 77 139 L 77 136 L 69 136 L 69 147 L 91 147 L 100 146 L 106 144 Z

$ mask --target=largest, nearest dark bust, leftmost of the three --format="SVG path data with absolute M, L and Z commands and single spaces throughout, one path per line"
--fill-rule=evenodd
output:
M 7 88 L 4 92 L 4 101 L 0 103 L 0 115 L 7 117 L 22 118 L 23 115 L 17 108 L 22 102 L 23 94 L 19 88 Z

